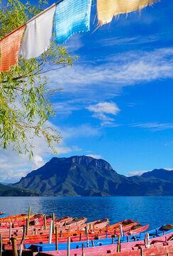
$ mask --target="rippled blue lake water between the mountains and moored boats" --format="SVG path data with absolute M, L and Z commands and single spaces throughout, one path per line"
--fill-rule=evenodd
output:
M 0 210 L 15 215 L 55 213 L 57 218 L 86 217 L 88 221 L 108 218 L 110 224 L 121 220 L 139 220 L 150 229 L 173 224 L 173 196 L 116 196 L 116 197 L 0 197 Z

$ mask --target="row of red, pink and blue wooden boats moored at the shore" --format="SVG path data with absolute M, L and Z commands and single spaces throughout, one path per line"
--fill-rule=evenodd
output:
M 0 212 L 0 255 L 99 256 L 169 255 L 173 253 L 173 225 L 148 230 L 149 225 L 108 219 L 90 223 L 86 218 L 54 214 L 9 216 Z

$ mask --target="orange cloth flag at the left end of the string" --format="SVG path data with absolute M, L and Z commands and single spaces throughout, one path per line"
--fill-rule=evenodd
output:
M 18 54 L 25 27 L 26 24 L 1 39 L 0 72 L 9 71 L 12 65 L 18 65 Z

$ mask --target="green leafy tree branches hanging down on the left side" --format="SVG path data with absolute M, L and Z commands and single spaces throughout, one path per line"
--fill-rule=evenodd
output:
M 0 9 L 0 39 L 39 14 L 43 3 L 45 1 L 39 1 L 36 7 L 29 2 L 23 4 L 20 0 L 7 1 L 6 6 Z M 39 58 L 23 60 L 20 56 L 18 66 L 0 74 L 1 149 L 12 146 L 19 153 L 32 156 L 33 138 L 44 137 L 56 153 L 54 145 L 60 142 L 60 133 L 46 124 L 55 115 L 49 97 L 60 89 L 49 89 L 46 74 L 52 65 L 56 68 L 72 66 L 75 59 L 65 47 L 52 42 L 48 51 Z

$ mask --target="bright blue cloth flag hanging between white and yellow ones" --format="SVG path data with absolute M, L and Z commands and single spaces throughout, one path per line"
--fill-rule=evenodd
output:
M 91 0 L 63 0 L 55 11 L 55 41 L 65 43 L 74 33 L 90 28 Z

